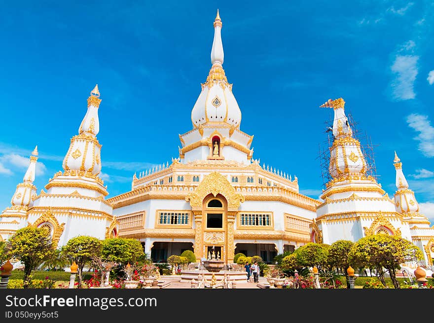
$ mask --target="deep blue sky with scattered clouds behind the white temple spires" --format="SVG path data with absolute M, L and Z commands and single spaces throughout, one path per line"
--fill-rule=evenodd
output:
M 331 109 L 346 110 L 374 147 L 395 192 L 394 150 L 422 211 L 434 220 L 431 1 L 20 1 L 0 21 L 0 209 L 37 144 L 38 193 L 77 134 L 98 83 L 103 178 L 109 196 L 135 171 L 178 157 L 178 134 L 211 67 L 223 21 L 223 67 L 254 135 L 254 158 L 298 177 L 318 198 L 319 144 Z M 303 1 L 304 2 L 304 1 Z

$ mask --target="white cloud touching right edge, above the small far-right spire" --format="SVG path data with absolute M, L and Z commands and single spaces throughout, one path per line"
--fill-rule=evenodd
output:
M 434 127 L 428 116 L 412 113 L 407 116 L 408 126 L 419 132 L 414 140 L 419 141 L 419 150 L 427 157 L 434 157 Z

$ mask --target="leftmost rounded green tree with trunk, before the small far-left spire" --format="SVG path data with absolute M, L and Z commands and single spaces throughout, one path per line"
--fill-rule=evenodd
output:
M 45 228 L 25 227 L 19 229 L 6 243 L 8 256 L 24 264 L 24 288 L 32 280 L 32 270 L 53 254 L 50 233 Z

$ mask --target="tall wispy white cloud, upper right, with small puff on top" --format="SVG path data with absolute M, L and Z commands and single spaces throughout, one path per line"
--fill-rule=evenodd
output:
M 405 47 L 410 46 L 408 43 Z M 412 47 L 409 47 L 412 48 Z M 413 85 L 418 73 L 417 61 L 419 56 L 416 55 L 397 55 L 391 67 L 395 78 L 392 81 L 392 93 L 396 100 L 409 100 L 414 99 Z

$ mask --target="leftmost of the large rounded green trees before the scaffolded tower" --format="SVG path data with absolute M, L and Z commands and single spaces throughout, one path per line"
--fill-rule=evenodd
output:
M 321 270 L 327 264 L 329 245 L 310 242 L 294 251 L 297 263 L 301 267 L 317 266 Z

